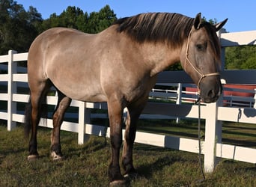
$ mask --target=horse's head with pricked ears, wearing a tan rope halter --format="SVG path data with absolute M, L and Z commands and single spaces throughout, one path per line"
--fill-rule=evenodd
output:
M 181 64 L 198 85 L 204 102 L 216 102 L 222 93 L 219 76 L 221 49 L 216 31 L 219 31 L 227 20 L 211 25 L 201 19 L 201 13 L 198 13 L 188 40 L 183 44 Z

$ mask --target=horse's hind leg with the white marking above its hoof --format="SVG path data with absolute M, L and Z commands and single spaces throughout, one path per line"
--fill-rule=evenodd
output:
M 52 120 L 53 120 L 53 129 L 51 136 L 51 156 L 53 160 L 62 159 L 61 153 L 61 142 L 60 142 L 60 130 L 61 123 L 63 121 L 64 112 L 67 107 L 70 105 L 71 99 L 68 96 L 65 96 L 64 93 L 58 91 L 58 104 L 55 108 Z

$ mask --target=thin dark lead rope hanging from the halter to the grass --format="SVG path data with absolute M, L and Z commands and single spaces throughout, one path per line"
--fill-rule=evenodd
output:
M 201 170 L 201 174 L 203 176 L 203 179 L 197 180 L 198 183 L 201 183 L 205 180 L 204 176 L 204 169 L 202 165 L 202 160 L 201 160 L 201 96 L 199 95 L 197 101 L 195 104 L 198 104 L 198 147 L 199 147 L 199 153 L 198 153 L 198 162 L 199 162 L 199 167 Z

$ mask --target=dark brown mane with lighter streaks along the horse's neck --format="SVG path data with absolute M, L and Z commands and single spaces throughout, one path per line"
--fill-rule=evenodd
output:
M 189 35 L 194 19 L 179 13 L 141 13 L 118 19 L 118 32 L 126 32 L 138 42 L 168 41 L 181 45 Z

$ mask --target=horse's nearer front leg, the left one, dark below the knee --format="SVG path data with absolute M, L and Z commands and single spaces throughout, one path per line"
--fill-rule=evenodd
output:
M 124 183 L 124 177 L 121 175 L 119 156 L 122 144 L 122 111 L 121 102 L 108 102 L 110 142 L 112 146 L 112 159 L 109 165 L 110 185 L 121 185 Z

